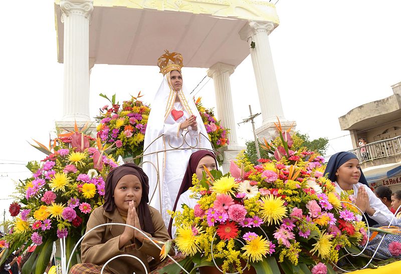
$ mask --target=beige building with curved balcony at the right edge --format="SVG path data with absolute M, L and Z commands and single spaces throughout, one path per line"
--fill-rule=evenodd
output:
M 401 189 L 401 82 L 391 87 L 393 95 L 355 107 L 338 119 L 341 129 L 350 132 L 350 152 L 359 158 L 369 184 L 394 191 Z

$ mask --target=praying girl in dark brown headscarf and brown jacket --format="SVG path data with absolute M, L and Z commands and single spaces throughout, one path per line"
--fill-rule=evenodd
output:
M 126 163 L 113 169 L 107 176 L 105 202 L 91 213 L 86 231 L 104 223 L 126 223 L 159 241 L 169 239 L 160 213 L 147 204 L 149 184 L 142 168 Z M 100 273 L 102 265 L 120 254 L 138 257 L 150 271 L 148 260 L 159 262 L 160 249 L 133 228 L 107 225 L 96 228 L 85 236 L 81 244 L 82 264 L 76 264 L 70 273 Z M 148 259 L 150 258 L 150 259 Z M 139 261 L 119 257 L 106 265 L 106 273 L 145 272 Z

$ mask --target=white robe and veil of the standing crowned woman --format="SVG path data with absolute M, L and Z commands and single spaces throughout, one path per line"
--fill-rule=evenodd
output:
M 175 102 L 176 96 L 179 102 Z M 179 91 L 172 88 L 170 72 L 163 76 L 150 107 L 142 167 L 149 177 L 149 205 L 160 210 L 168 226 L 167 210 L 172 210 L 189 156 L 200 148 L 212 150 L 212 145 L 189 92 L 184 86 Z M 174 120 L 172 109 L 182 110 L 183 116 Z M 192 114 L 196 116 L 197 130 L 180 130 L 180 123 Z

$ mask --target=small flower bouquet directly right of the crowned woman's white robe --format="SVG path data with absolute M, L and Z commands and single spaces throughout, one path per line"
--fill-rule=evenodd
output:
M 215 150 L 227 146 L 230 143 L 228 135 L 230 133 L 230 128 L 225 128 L 221 125 L 220 120 L 216 119 L 212 108 L 205 108 L 200 102 L 200 97 L 195 100 L 195 105 L 199 111 L 200 117 L 205 124 L 206 131 L 209 135 L 209 140 L 211 141 Z M 216 153 L 217 160 L 220 164 L 223 164 L 224 158 L 222 153 Z

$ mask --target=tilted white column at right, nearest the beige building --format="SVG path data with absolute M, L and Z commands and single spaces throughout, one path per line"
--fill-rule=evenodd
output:
M 270 49 L 269 34 L 274 29 L 272 22 L 250 21 L 240 30 L 240 37 L 248 41 L 254 67 L 259 102 L 262 110 L 262 126 L 256 129 L 260 137 L 274 138 L 277 135 L 273 122 L 277 117 L 288 128 L 293 123 L 284 117 L 280 92 Z M 252 48 L 251 43 L 255 47 Z M 294 123 L 295 125 L 295 123 Z

